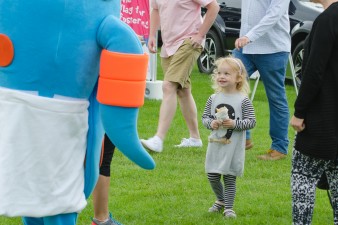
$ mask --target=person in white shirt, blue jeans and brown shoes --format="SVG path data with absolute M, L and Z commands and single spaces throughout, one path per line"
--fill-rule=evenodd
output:
M 289 108 L 284 82 L 291 49 L 289 3 L 242 0 L 240 37 L 233 51 L 249 76 L 260 73 L 268 98 L 272 144 L 266 154 L 258 156 L 262 160 L 279 160 L 288 153 Z M 246 139 L 246 148 L 251 148 L 250 132 Z

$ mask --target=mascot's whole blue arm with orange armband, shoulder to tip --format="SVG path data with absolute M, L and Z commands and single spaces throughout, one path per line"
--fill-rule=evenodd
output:
M 153 169 L 155 162 L 136 129 L 139 107 L 144 103 L 148 55 L 131 27 L 114 16 L 101 22 L 96 39 L 102 47 L 96 98 L 104 130 L 131 161 Z M 123 123 L 116 123 L 115 118 Z

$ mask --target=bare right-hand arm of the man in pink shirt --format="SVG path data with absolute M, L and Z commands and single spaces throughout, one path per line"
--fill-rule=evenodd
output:
M 202 44 L 205 35 L 208 33 L 210 27 L 214 23 L 219 11 L 219 5 L 215 0 L 206 5 L 205 8 L 207 9 L 207 12 L 204 15 L 204 20 L 200 29 L 198 30 L 198 34 L 191 37 L 193 45 Z

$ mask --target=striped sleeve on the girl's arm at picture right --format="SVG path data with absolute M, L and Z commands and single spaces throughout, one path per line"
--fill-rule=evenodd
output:
M 235 130 L 249 130 L 255 127 L 256 117 L 255 110 L 248 97 L 245 97 L 242 101 L 242 120 L 236 120 Z

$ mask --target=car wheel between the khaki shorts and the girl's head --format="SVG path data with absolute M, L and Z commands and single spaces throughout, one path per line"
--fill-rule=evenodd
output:
M 212 73 L 215 60 L 222 55 L 221 42 L 215 31 L 209 30 L 206 35 L 205 46 L 197 59 L 197 66 L 201 73 Z

